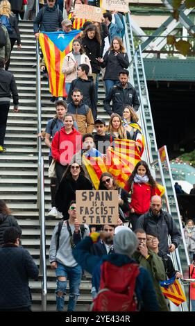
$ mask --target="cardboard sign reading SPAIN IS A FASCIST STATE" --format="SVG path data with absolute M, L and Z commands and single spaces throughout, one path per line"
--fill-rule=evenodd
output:
M 77 190 L 76 213 L 80 224 L 117 224 L 117 190 Z

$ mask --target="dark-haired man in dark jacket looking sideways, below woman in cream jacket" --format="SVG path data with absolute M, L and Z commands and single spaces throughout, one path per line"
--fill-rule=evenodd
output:
M 77 79 L 72 80 L 69 94 L 67 98 L 67 103 L 71 103 L 72 98 L 71 94 L 75 88 L 80 89 L 83 94 L 83 103 L 89 106 L 92 110 L 92 114 L 94 120 L 96 119 L 97 112 L 96 112 L 96 101 L 95 101 L 95 87 L 93 80 L 88 79 L 88 74 L 90 71 L 90 67 L 85 63 L 81 63 L 77 69 Z

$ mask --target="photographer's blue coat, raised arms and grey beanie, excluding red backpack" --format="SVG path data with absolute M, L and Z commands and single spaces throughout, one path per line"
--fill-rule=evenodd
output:
M 120 227 L 121 228 L 121 227 Z M 110 234 L 101 233 L 101 238 L 110 237 Z M 85 237 L 80 241 L 73 250 L 73 255 L 80 266 L 85 271 L 92 274 L 92 284 L 96 291 L 99 291 L 101 278 L 101 265 L 104 261 L 110 261 L 115 266 L 124 266 L 125 264 L 135 264 L 131 258 L 135 252 L 138 241 L 135 234 L 129 229 L 121 228 L 113 237 L 113 246 L 115 253 L 111 255 L 103 255 L 102 257 L 94 256 L 90 253 L 90 248 L 93 246 L 93 239 L 96 238 L 96 232 L 90 234 L 90 237 Z M 158 303 L 153 289 L 153 283 L 149 273 L 142 267 L 139 267 L 139 275 L 136 278 L 135 293 L 137 300 L 141 304 L 141 311 L 158 311 Z

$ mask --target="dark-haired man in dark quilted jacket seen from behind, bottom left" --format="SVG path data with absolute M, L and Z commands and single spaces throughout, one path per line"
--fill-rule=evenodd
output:
M 0 248 L 0 311 L 31 311 L 28 279 L 37 280 L 39 270 L 29 252 L 19 246 L 21 229 L 11 226 L 3 233 Z

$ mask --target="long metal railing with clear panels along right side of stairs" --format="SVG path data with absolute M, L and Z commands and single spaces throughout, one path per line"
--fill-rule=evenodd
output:
M 146 161 L 148 162 L 151 169 L 155 169 L 155 180 L 160 182 L 165 188 L 165 203 L 163 208 L 173 216 L 174 220 L 177 223 L 178 228 L 183 235 L 183 243 L 180 248 L 176 249 L 173 254 L 171 254 L 171 258 L 173 260 L 173 265 L 177 271 L 181 271 L 183 275 L 188 276 L 188 266 L 189 266 L 189 257 L 187 254 L 187 248 L 185 243 L 185 238 L 183 234 L 183 227 L 180 221 L 180 212 L 178 209 L 178 202 L 175 194 L 175 189 L 173 186 L 173 180 L 171 175 L 171 169 L 169 166 L 169 157 L 166 152 L 166 164 L 162 164 L 160 160 L 160 153 L 158 151 L 158 146 L 155 138 L 155 129 L 153 125 L 153 117 L 151 113 L 151 105 L 149 100 L 149 92 L 146 83 L 146 75 L 144 71 L 144 62 L 142 58 L 142 49 L 141 46 L 138 46 L 138 49 L 135 51 L 134 40 L 133 40 L 133 31 L 130 24 L 130 15 L 126 15 L 126 29 L 128 31 L 128 35 L 126 35 L 126 44 L 129 43 L 127 49 L 130 49 L 130 65 L 133 65 L 133 80 L 135 89 L 139 96 L 140 102 L 140 116 L 141 116 L 141 126 L 142 132 L 146 140 Z M 128 37 L 128 40 L 127 40 Z M 167 151 L 167 148 L 166 148 Z M 168 168 L 168 169 L 167 169 Z M 154 171 L 153 171 L 154 172 Z M 182 285 L 183 286 L 183 285 Z M 186 293 L 187 291 L 183 290 Z M 173 308 L 173 307 L 171 307 Z M 175 307 L 174 307 L 175 308 Z M 175 309 L 174 309 L 175 310 Z M 179 311 L 187 311 L 187 302 L 183 302 L 178 307 Z

